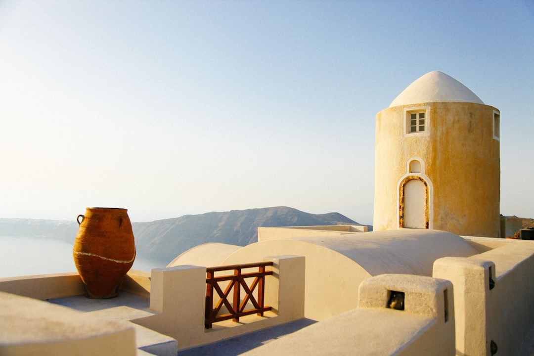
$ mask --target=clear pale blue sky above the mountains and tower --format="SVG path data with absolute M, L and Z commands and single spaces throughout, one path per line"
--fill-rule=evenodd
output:
M 534 218 L 532 0 L 0 1 L 0 217 L 372 224 L 375 115 L 432 70 L 500 109 L 501 213 Z

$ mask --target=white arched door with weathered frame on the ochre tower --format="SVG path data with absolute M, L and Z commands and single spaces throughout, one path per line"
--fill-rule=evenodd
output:
M 428 185 L 418 176 L 400 184 L 399 227 L 428 228 Z

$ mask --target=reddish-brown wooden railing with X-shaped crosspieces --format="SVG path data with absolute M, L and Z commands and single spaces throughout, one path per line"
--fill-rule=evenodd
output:
M 265 271 L 266 266 L 272 266 L 272 262 L 249 263 L 243 265 L 219 266 L 206 268 L 206 313 L 204 326 L 210 329 L 211 325 L 217 321 L 232 319 L 239 321 L 239 317 L 245 315 L 258 314 L 263 316 L 263 312 L 271 310 L 270 306 L 263 305 L 265 276 L 272 274 L 272 271 Z M 247 268 L 258 268 L 257 272 L 244 273 Z M 215 276 L 215 272 L 233 271 L 233 274 Z M 246 279 L 254 278 L 250 286 Z M 226 282 L 225 287 L 221 287 L 219 282 Z M 224 288 L 224 291 L 223 291 Z M 253 292 L 257 288 L 256 297 Z M 241 289 L 245 291 L 245 296 L 241 300 Z M 219 300 L 214 304 L 214 290 L 217 292 Z M 232 299 L 229 300 L 232 292 Z M 248 303 L 252 303 L 253 308 L 245 310 Z M 215 306 L 214 306 L 215 305 Z M 223 305 L 228 310 L 226 314 L 219 314 Z

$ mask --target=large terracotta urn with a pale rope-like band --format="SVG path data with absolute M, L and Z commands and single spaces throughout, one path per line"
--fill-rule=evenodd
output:
M 87 208 L 78 215 L 73 257 L 87 297 L 113 298 L 136 256 L 127 209 Z

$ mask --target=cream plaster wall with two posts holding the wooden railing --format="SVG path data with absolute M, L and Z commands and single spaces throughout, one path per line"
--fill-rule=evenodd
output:
M 152 270 L 150 308 L 156 314 L 131 321 L 175 338 L 183 350 L 304 318 L 305 258 L 274 256 L 264 261 L 273 262 L 264 297 L 272 311 L 264 317 L 248 315 L 239 323 L 217 322 L 206 329 L 206 267 L 178 265 Z

